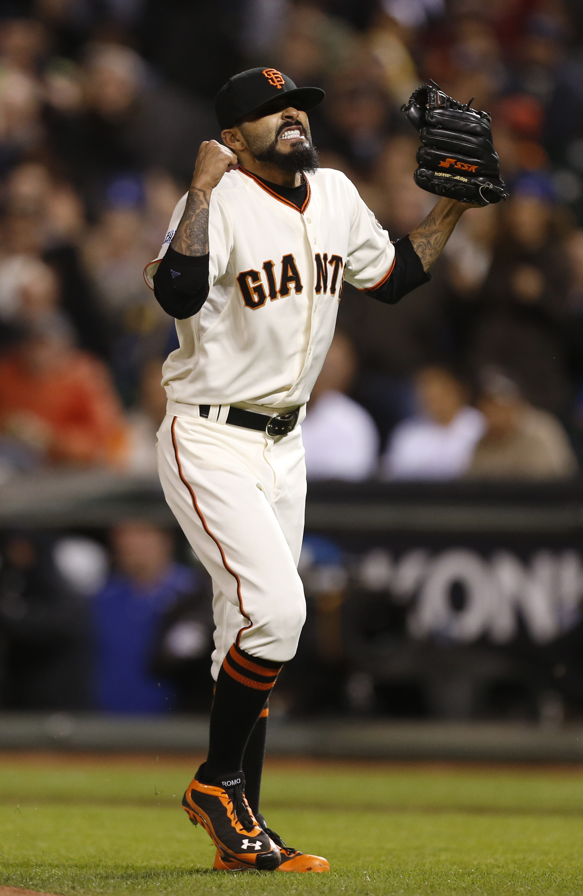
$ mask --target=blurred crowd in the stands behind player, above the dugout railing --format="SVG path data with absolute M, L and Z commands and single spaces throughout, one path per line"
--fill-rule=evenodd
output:
M 213 97 L 269 65 L 326 102 L 322 166 L 391 237 L 434 201 L 400 106 L 431 78 L 492 114 L 510 199 L 468 211 L 395 307 L 348 285 L 303 425 L 311 478 L 553 478 L 583 460 L 578 0 L 0 2 L 0 480 L 155 471 L 174 324 L 142 277 L 218 138 Z

